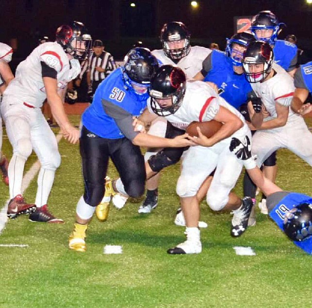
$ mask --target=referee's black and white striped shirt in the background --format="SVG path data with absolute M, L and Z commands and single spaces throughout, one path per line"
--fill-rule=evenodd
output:
M 97 57 L 94 52 L 91 52 L 89 59 L 84 63 L 84 66 L 87 66 L 87 70 L 90 72 L 91 81 L 100 81 L 105 79 L 116 68 L 113 56 L 107 51 L 103 51 L 99 57 Z M 84 66 L 82 67 L 82 72 L 85 71 Z M 98 72 L 95 69 L 96 66 L 102 67 L 105 69 L 105 72 Z

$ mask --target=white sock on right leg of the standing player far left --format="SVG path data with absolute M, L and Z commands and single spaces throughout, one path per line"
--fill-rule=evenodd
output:
M 41 168 L 38 174 L 38 188 L 36 194 L 36 207 L 42 207 L 48 203 L 49 194 L 54 181 L 55 170 Z

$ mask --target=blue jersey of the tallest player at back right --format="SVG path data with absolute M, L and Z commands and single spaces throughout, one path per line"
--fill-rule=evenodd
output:
M 285 71 L 289 72 L 297 64 L 297 46 L 283 40 L 277 40 L 273 47 L 274 62 L 279 64 Z

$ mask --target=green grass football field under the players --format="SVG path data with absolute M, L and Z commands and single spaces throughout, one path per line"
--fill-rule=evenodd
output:
M 71 120 L 79 122 L 78 116 Z M 308 122 L 312 126 L 312 121 Z M 57 132 L 57 129 L 55 129 Z M 5 135 L 5 133 L 4 133 Z M 8 221 L 0 244 L 0 307 L 107 308 L 296 308 L 311 307 L 312 257 L 293 245 L 277 226 L 258 211 L 257 225 L 241 238 L 230 237 L 231 216 L 213 213 L 202 202 L 203 251 L 198 255 L 167 255 L 184 241 L 173 224 L 178 207 L 175 185 L 179 166 L 163 172 L 158 208 L 137 214 L 141 200 L 122 210 L 111 207 L 109 219 L 96 217 L 87 231 L 87 251 L 67 248 L 76 203 L 83 192 L 78 145 L 62 139 L 62 155 L 49 198 L 49 209 L 63 225 L 32 223 L 27 216 Z M 4 136 L 3 152 L 12 149 Z M 36 161 L 33 154 L 26 165 Z M 287 150 L 278 154 L 277 184 L 312 195 L 311 167 Z M 113 166 L 109 175 L 116 176 Z M 242 182 L 236 192 L 242 196 Z M 8 188 L 0 183 L 0 208 Z M 33 202 L 36 179 L 24 197 Z M 105 245 L 122 245 L 123 254 L 103 254 Z M 256 256 L 237 256 L 233 246 L 251 246 Z M 310 282 L 309 282 L 310 281 Z M 310 302 L 310 304 L 309 304 Z

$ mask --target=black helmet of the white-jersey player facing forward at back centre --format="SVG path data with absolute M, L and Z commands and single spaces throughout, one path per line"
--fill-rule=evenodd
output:
M 190 46 L 191 34 L 186 26 L 180 21 L 172 21 L 164 24 L 160 33 L 160 41 L 162 43 L 165 55 L 173 61 L 179 61 L 187 56 L 191 50 Z M 184 40 L 184 46 L 177 49 L 170 49 L 168 42 Z

